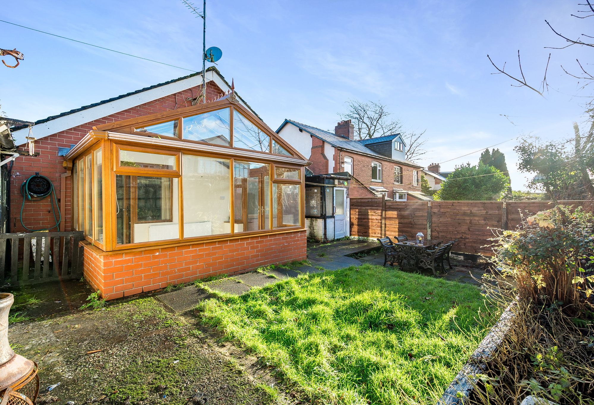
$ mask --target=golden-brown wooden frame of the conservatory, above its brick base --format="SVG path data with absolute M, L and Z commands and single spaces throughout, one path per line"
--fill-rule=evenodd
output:
M 195 141 L 183 138 L 185 134 L 184 119 L 189 120 L 190 118 L 194 118 L 194 116 L 203 113 L 224 109 L 229 109 L 229 145 L 207 143 L 206 141 Z M 258 137 L 260 137 L 260 133 L 270 137 L 268 138 L 268 150 L 258 151 L 235 147 L 234 119 L 236 113 L 241 114 L 241 119 L 244 120 L 242 123 L 245 123 L 247 120 L 249 121 L 249 124 L 258 129 Z M 149 126 L 159 124 L 169 125 L 170 123 L 173 123 L 175 131 L 173 134 L 176 134 L 176 136 L 146 132 L 146 128 Z M 143 132 L 138 130 L 140 128 L 143 128 Z M 217 135 L 217 137 L 219 136 Z M 260 142 L 260 145 L 262 144 L 263 143 Z M 144 156 L 146 156 L 146 154 L 151 154 L 151 156 L 155 157 L 164 157 L 169 163 L 156 164 L 153 166 L 142 166 L 142 164 L 140 164 L 140 166 L 135 164 L 123 165 L 121 164 L 121 150 L 144 154 Z M 280 151 L 280 153 L 273 153 L 273 151 Z M 184 181 L 186 180 L 183 177 L 184 167 L 182 164 L 184 156 L 211 158 L 214 160 L 220 159 L 216 160 L 216 162 L 224 162 L 225 164 L 226 162 L 229 162 L 229 167 L 225 166 L 225 170 L 228 170 L 229 173 L 229 194 L 226 194 L 228 195 L 228 203 L 225 201 L 226 204 L 229 204 L 229 220 L 225 221 L 229 222 L 228 232 L 218 233 L 216 235 L 202 235 L 184 238 L 184 227 L 186 224 L 184 222 Z M 197 242 L 238 239 L 254 235 L 270 235 L 304 230 L 305 166 L 308 164 L 307 159 L 299 154 L 295 148 L 287 144 L 272 129 L 268 128 L 260 118 L 254 115 L 254 113 L 242 106 L 235 98 L 234 93 L 228 94 L 220 100 L 206 104 L 183 107 L 153 115 L 94 126 L 80 143 L 75 145 L 72 150 L 69 151 L 66 159 L 68 168 L 71 170 L 72 178 L 72 227 L 73 229 L 83 230 L 86 235 L 86 240 L 105 252 L 121 251 L 123 249 L 149 248 L 154 246 L 188 245 Z M 238 183 L 236 183 L 236 163 L 244 164 L 242 167 L 247 167 L 247 169 L 244 170 L 247 170 L 248 173 L 252 171 L 252 164 L 255 166 L 258 164 L 268 165 L 267 177 L 261 176 L 260 180 L 256 182 L 258 190 L 267 187 L 267 194 L 263 191 L 257 192 L 257 194 L 259 193 L 256 200 L 258 206 L 257 222 L 260 223 L 260 227 L 258 227 L 259 230 L 244 230 L 247 229 L 247 227 L 244 226 L 244 223 L 247 224 L 248 222 L 247 213 L 239 214 L 244 223 L 239 223 L 236 219 L 236 214 L 238 212 L 236 211 L 238 210 L 238 206 L 235 205 L 236 195 L 242 196 L 242 210 L 245 210 L 245 207 L 248 205 L 247 201 L 244 200 L 254 197 L 254 194 L 248 194 L 247 186 L 245 186 L 246 188 L 244 189 L 240 189 L 244 187 L 244 185 L 238 185 Z M 245 163 L 248 163 L 248 165 L 246 166 Z M 288 170 L 283 171 L 279 169 Z M 290 172 L 290 175 L 286 176 L 286 172 Z M 277 173 L 281 173 L 283 177 L 277 177 Z M 172 222 L 171 225 L 175 225 L 174 221 L 176 220 L 178 238 L 142 242 L 132 241 L 129 243 L 124 242 L 124 239 L 122 239 L 122 242 L 118 243 L 119 228 L 116 221 L 116 213 L 121 212 L 121 207 L 119 206 L 121 204 L 118 203 L 119 197 L 116 194 L 116 176 L 118 175 L 121 175 L 121 179 L 137 179 L 139 176 L 154 176 L 153 178 L 171 179 L 167 184 L 172 190 L 171 197 L 168 197 L 168 204 L 170 204 L 172 208 L 170 208 L 170 212 L 163 214 L 164 216 L 169 215 L 170 219 L 169 217 L 166 217 L 168 219 L 164 219 L 163 222 Z M 250 175 L 247 176 L 249 177 Z M 137 185 L 140 183 L 136 182 L 134 185 L 121 184 L 122 189 L 126 187 L 132 189 L 137 188 Z M 165 182 L 163 182 L 163 184 L 165 184 Z M 225 183 L 223 183 L 223 186 L 224 184 Z M 293 193 L 293 196 L 298 196 L 299 200 L 298 221 L 296 220 L 295 214 L 296 207 L 293 206 L 294 201 L 296 200 L 295 197 L 293 197 L 292 200 L 293 205 L 287 208 L 287 211 L 291 210 L 293 212 L 291 216 L 292 223 L 290 224 L 283 223 L 285 216 L 283 215 L 284 208 L 281 199 L 284 198 L 283 193 L 286 190 L 284 186 L 292 186 L 292 188 L 289 188 L 289 191 Z M 295 186 L 298 186 L 298 193 Z M 157 186 L 157 188 L 159 187 L 160 186 Z M 165 190 L 166 188 L 163 189 Z M 277 190 L 276 196 L 273 195 L 275 189 Z M 251 190 L 253 191 L 254 189 L 252 188 Z M 161 192 L 163 193 L 163 191 Z M 280 197 L 278 196 L 279 193 Z M 212 195 L 214 195 L 214 193 Z M 138 195 L 135 195 L 135 198 L 137 197 Z M 221 200 L 223 200 L 223 198 L 223 196 L 220 197 Z M 277 200 L 275 201 L 274 198 L 277 198 Z M 133 197 L 129 197 L 129 200 L 135 201 Z M 175 202 L 175 200 L 177 201 Z M 211 204 L 213 203 L 213 201 L 209 202 Z M 198 203 L 196 204 L 198 205 Z M 135 208 L 134 204 L 130 205 L 130 207 L 131 213 L 120 215 L 134 215 L 135 218 L 138 219 L 138 211 L 135 213 L 133 212 L 137 208 Z M 277 210 L 273 212 L 274 207 L 276 207 Z M 164 210 L 162 207 L 160 209 Z M 195 209 L 197 210 L 198 208 Z M 223 211 L 224 210 L 225 208 L 223 208 Z M 273 226 L 273 217 L 276 221 L 279 221 L 276 226 Z M 130 220 L 131 217 L 125 218 Z M 125 225 L 126 219 L 118 220 L 121 221 L 122 228 L 127 226 Z M 159 222 L 159 220 L 150 221 L 151 224 L 157 222 Z M 298 222 L 298 224 L 296 224 L 296 222 Z M 131 223 L 132 226 L 135 226 L 136 224 L 142 223 L 142 221 L 131 220 Z M 242 226 L 239 226 L 240 224 Z M 226 224 L 223 225 L 226 226 Z M 227 228 L 225 229 L 227 230 Z M 131 233 L 133 233 L 133 231 Z

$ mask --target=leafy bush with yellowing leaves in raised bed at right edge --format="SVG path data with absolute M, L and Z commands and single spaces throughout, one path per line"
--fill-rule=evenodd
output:
M 594 215 L 557 207 L 528 217 L 520 230 L 494 241 L 495 261 L 520 298 L 558 306 L 568 315 L 594 315 Z

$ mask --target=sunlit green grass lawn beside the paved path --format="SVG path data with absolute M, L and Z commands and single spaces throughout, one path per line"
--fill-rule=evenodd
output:
M 324 404 L 430 404 L 497 315 L 470 284 L 362 265 L 198 307 Z

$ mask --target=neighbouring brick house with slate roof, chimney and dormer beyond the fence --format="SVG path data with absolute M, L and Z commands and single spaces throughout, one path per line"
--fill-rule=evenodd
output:
M 333 133 L 289 119 L 276 132 L 309 156 L 309 169 L 315 175 L 350 173 L 354 179 L 349 197 L 429 200 L 421 192 L 423 167 L 406 160 L 406 143 L 400 134 L 355 141 L 350 120 L 339 122 Z

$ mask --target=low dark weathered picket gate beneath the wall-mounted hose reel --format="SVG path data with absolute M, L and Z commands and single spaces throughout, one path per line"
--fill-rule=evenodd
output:
M 78 279 L 83 232 L 0 233 L 0 285 Z

